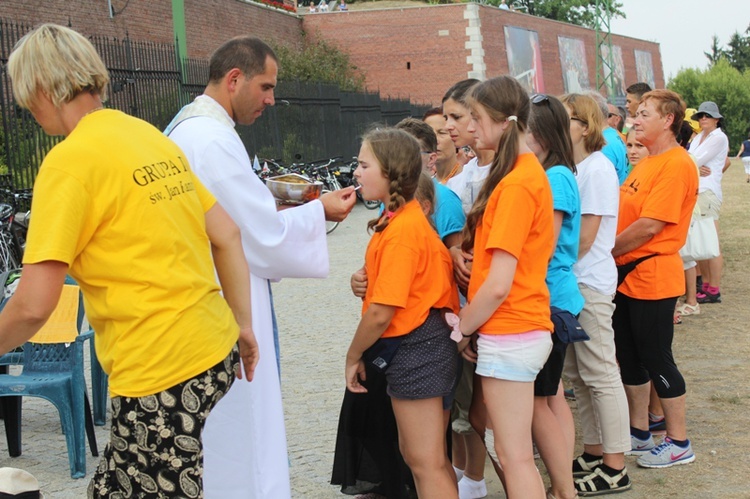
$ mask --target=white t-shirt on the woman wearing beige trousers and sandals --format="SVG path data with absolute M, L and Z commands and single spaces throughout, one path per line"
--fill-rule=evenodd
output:
M 602 217 L 594 244 L 573 265 L 579 284 L 605 295 L 617 289 L 617 267 L 612 248 L 617 235 L 617 211 L 620 205 L 620 182 L 612 162 L 596 151 L 576 165 L 581 215 Z

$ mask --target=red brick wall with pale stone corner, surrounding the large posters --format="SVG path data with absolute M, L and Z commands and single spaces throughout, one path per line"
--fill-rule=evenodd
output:
M 304 16 L 303 27 L 349 53 L 366 73 L 368 88 L 438 104 L 445 90 L 472 69 L 466 10 L 465 4 L 453 4 L 313 14 Z M 547 93 L 564 92 L 558 35 L 584 41 L 589 83 L 596 85 L 593 30 L 487 6 L 479 6 L 479 19 L 487 78 L 508 73 L 503 28 L 515 26 L 538 33 Z M 638 49 L 651 53 L 656 86 L 664 86 L 658 44 L 618 35 L 612 36 L 612 44 L 622 48 L 626 85 L 638 81 Z

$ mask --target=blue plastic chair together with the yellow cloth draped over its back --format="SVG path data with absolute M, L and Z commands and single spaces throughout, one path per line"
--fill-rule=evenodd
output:
M 0 375 L 6 432 L 14 426 L 17 430 L 20 428 L 21 396 L 41 397 L 52 402 L 60 413 L 73 478 L 82 478 L 86 474 L 86 422 L 91 421 L 91 413 L 90 409 L 87 411 L 83 347 L 94 334 L 91 330 L 83 334 L 78 332 L 79 303 L 78 286 L 64 286 L 50 320 L 24 344 L 23 372 L 18 376 Z M 66 324 L 62 325 L 63 322 Z M 93 436 L 93 425 L 90 430 L 90 436 Z M 12 436 L 6 436 L 11 450 Z M 20 454 L 20 431 L 17 439 Z M 95 440 L 93 443 L 92 454 L 97 455 Z

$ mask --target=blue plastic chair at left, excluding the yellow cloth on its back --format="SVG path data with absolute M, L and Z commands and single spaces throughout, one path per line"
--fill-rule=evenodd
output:
M 80 292 L 79 292 L 80 302 Z M 79 307 L 80 309 L 80 307 Z M 78 323 L 80 331 L 80 322 Z M 0 375 L 0 398 L 6 418 L 6 432 L 15 429 L 20 454 L 20 397 L 41 397 L 52 402 L 60 413 L 60 422 L 68 448 L 70 475 L 82 478 L 86 474 L 86 426 L 91 421 L 86 383 L 83 375 L 83 348 L 94 332 L 78 334 L 71 343 L 27 342 L 23 348 L 23 371 L 20 375 Z M 88 412 L 88 415 L 87 415 Z M 93 437 L 93 425 L 89 436 Z M 89 440 L 92 443 L 92 440 Z M 97 455 L 93 441 L 92 453 Z

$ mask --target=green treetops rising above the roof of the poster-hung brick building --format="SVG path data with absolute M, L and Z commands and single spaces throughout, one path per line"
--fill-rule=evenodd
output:
M 596 4 L 609 2 L 612 17 L 625 18 L 622 2 L 617 0 L 506 0 L 509 6 L 532 16 L 554 19 L 593 28 L 596 25 Z M 500 0 L 486 0 L 489 5 L 500 5 Z

